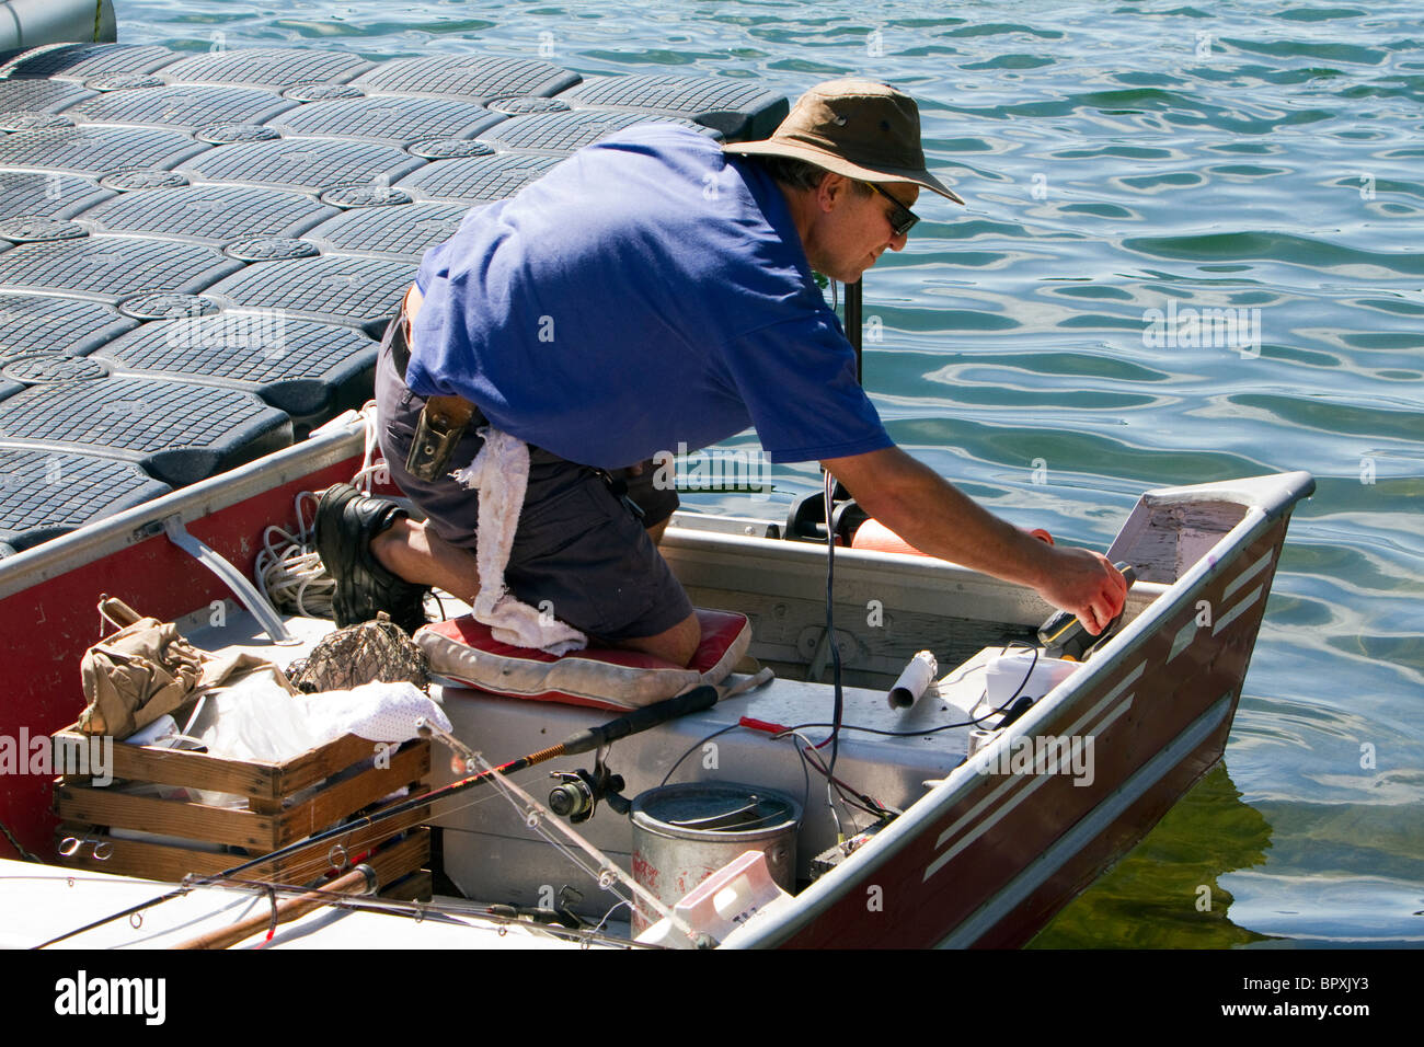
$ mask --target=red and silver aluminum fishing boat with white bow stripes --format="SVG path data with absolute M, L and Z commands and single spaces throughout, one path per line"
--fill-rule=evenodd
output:
M 3 732 L 23 728 L 36 738 L 75 719 L 84 704 L 78 664 L 100 638 L 101 591 L 178 623 L 206 650 L 245 647 L 278 664 L 298 657 L 333 625 L 279 618 L 232 577 L 252 575 L 268 524 L 295 526 L 300 491 L 349 479 L 362 466 L 363 449 L 360 422 L 326 426 L 293 447 L 0 560 L 0 620 L 11 637 Z M 750 654 L 772 667 L 776 679 L 615 742 L 608 765 L 625 778 L 628 796 L 671 776 L 735 781 L 805 802 L 792 899 L 746 920 L 728 946 L 1020 946 L 1220 759 L 1292 509 L 1313 487 L 1309 474 L 1286 473 L 1146 491 L 1108 550 L 1138 575 L 1121 627 L 1002 726 L 1002 715 L 984 717 L 987 660 L 1014 644 L 1032 645 L 1035 627 L 1052 610 L 1034 593 L 926 557 L 840 548 L 837 627 L 827 638 L 822 546 L 768 537 L 765 521 L 679 513 L 662 543 L 665 557 L 696 605 L 749 617 Z M 218 607 L 224 613 L 214 614 Z M 300 642 L 275 644 L 268 631 L 286 631 Z M 824 783 L 807 785 L 799 741 L 745 726 L 749 721 L 809 725 L 803 736 L 813 744 L 824 739 L 833 705 L 830 642 L 839 648 L 844 677 L 836 778 L 901 812 L 891 819 L 859 815 L 856 821 L 849 808 L 833 813 Z M 894 709 L 886 692 L 920 650 L 936 654 L 938 682 L 913 708 Z M 491 761 L 537 751 L 612 715 L 454 685 L 431 687 L 431 694 L 454 734 Z M 975 709 L 980 719 L 971 724 Z M 940 729 L 909 734 L 934 728 Z M 1047 761 L 1044 739 L 1062 745 Z M 678 762 L 689 751 L 692 756 Z M 574 771 L 588 759 L 571 758 L 554 769 Z M 433 766 L 434 785 L 454 779 L 443 759 Z M 538 795 L 547 792 L 548 771 L 531 768 L 513 781 Z M 0 778 L 0 822 L 24 848 L 53 859 L 50 791 L 44 778 Z M 443 843 L 440 882 L 486 906 L 481 913 L 490 905 L 547 905 L 551 892 L 568 889 L 567 897 L 581 899 L 570 906 L 598 930 L 520 922 L 515 937 L 477 933 L 468 943 L 625 942 L 629 913 L 615 912 L 617 892 L 607 889 L 617 885 L 581 872 L 564 849 L 530 829 L 525 813 L 493 791 L 478 802 L 437 806 L 430 825 L 439 826 Z M 627 863 L 634 852 L 629 819 L 607 806 L 578 830 L 612 862 Z M 817 855 L 847 836 L 863 842 L 849 856 L 837 853 L 813 869 Z M 90 859 L 88 868 L 103 865 Z M 38 882 L 47 876 L 71 872 L 26 866 L 14 880 L 16 869 L 6 866 L 11 882 L 0 890 L 0 907 L 11 910 L 0 922 L 11 927 L 11 946 L 38 944 L 83 926 L 83 916 L 107 905 L 95 899 L 114 902 L 108 912 L 128 905 L 118 895 L 80 892 L 74 897 L 88 897 L 88 907 L 61 912 L 53 902 L 34 900 L 24 883 L 41 890 Z M 44 890 L 53 893 L 53 883 Z M 130 885 L 122 897 L 137 893 L 142 890 Z M 175 932 L 165 930 L 159 910 L 140 929 L 117 922 L 70 943 L 174 944 Z M 232 895 L 214 902 L 214 910 L 206 919 L 231 919 Z M 484 932 L 504 926 L 484 916 L 470 922 Z M 434 934 L 436 923 L 423 920 L 422 930 L 413 920 L 383 915 L 379 926 L 389 933 L 383 942 L 410 944 L 422 939 L 409 934 Z M 339 919 L 313 920 L 309 932 L 290 932 L 282 940 L 340 943 L 349 929 L 336 924 Z M 430 942 L 453 944 L 441 924 L 439 940 Z M 367 934 L 362 946 L 370 944 Z

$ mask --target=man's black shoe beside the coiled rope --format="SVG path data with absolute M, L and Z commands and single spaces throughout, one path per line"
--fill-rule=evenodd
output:
M 337 625 L 370 621 L 379 611 L 414 632 L 426 624 L 429 585 L 387 571 L 370 553 L 370 540 L 406 516 L 393 501 L 369 499 L 349 483 L 328 487 L 316 506 L 316 550 L 336 580 L 332 611 Z

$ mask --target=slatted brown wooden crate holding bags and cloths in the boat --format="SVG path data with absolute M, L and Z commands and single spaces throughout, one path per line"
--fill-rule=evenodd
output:
M 70 726 L 56 732 L 54 739 L 56 745 L 75 745 L 84 744 L 87 736 Z M 58 860 L 74 868 L 169 882 L 181 880 L 188 873 L 219 873 L 320 832 L 402 786 L 419 786 L 429 776 L 430 742 L 424 739 L 386 751 L 379 765 L 372 762 L 377 752 L 376 742 L 353 735 L 279 764 L 118 742 L 111 761 L 115 785 L 118 781 L 178 785 L 236 793 L 245 803 L 242 808 L 219 808 L 132 796 L 114 786 L 94 786 L 87 778 L 60 778 L 54 783 L 54 812 L 63 822 L 58 835 L 85 843 Z M 313 843 L 255 866 L 244 879 L 310 882 L 333 865 L 355 860 L 362 852 L 384 855 L 384 840 L 427 816 L 429 808 L 420 808 L 389 822 L 356 828 L 336 840 Z M 222 846 L 189 848 L 124 839 L 108 832 L 114 828 Z M 420 843 L 412 845 L 412 839 Z M 107 860 L 94 858 L 97 846 L 110 850 Z M 390 869 L 382 883 L 392 883 L 429 862 L 429 835 L 407 836 L 393 845 L 393 850 L 396 858 L 383 858 Z

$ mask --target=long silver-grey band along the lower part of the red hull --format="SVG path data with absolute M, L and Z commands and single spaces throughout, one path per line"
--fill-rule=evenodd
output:
M 1002 890 L 981 905 L 958 927 L 946 936 L 936 949 L 967 949 L 987 934 L 994 926 L 1024 903 L 1030 895 L 1048 882 L 1067 862 L 1111 826 L 1122 812 L 1136 803 L 1148 789 L 1161 782 L 1168 772 L 1190 755 L 1220 722 L 1230 714 L 1232 692 L 1227 691 L 1212 708 L 1198 717 L 1188 728 L 1172 739 L 1171 745 L 1158 752 L 1136 773 L 1088 812 L 1087 816 L 1059 836 L 1024 872 L 1010 880 Z

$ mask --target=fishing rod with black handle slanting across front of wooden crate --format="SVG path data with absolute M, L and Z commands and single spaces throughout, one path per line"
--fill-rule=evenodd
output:
M 441 799 L 464 792 L 466 789 L 473 789 L 477 785 L 484 785 L 486 782 L 491 781 L 496 775 L 507 776 L 518 773 L 520 771 L 535 766 L 537 764 L 543 764 L 545 761 L 555 759 L 558 756 L 571 756 L 580 752 L 598 749 L 601 746 L 611 745 L 619 738 L 627 738 L 628 735 L 638 734 L 639 731 L 646 731 L 649 728 L 658 726 L 659 724 L 665 724 L 669 719 L 676 719 L 678 717 L 685 717 L 691 712 L 702 712 L 703 709 L 709 709 L 713 705 L 716 705 L 716 702 L 721 698 L 729 698 L 733 694 L 740 694 L 742 691 L 750 689 L 752 687 L 758 687 L 759 684 L 763 684 L 768 679 L 770 679 L 770 670 L 762 670 L 758 675 L 750 677 L 749 679 L 743 679 L 738 684 L 733 684 L 732 687 L 723 689 L 722 692 L 719 692 L 718 688 L 712 687 L 711 684 L 695 687 L 691 691 L 685 691 L 684 694 L 679 694 L 674 698 L 668 698 L 661 702 L 654 702 L 652 705 L 645 705 L 641 709 L 634 709 L 632 712 L 624 717 L 618 717 L 617 719 L 611 719 L 607 724 L 600 724 L 595 726 L 585 728 L 584 731 L 578 731 L 577 734 L 572 734 L 568 738 L 565 738 L 558 745 L 551 745 L 547 749 L 540 749 L 538 752 L 531 752 L 527 756 L 511 759 L 508 764 L 501 764 L 500 766 L 494 766 L 487 771 L 468 775 L 467 778 L 461 778 L 460 781 L 451 782 L 450 785 L 443 785 L 439 789 L 431 789 L 426 793 L 422 793 L 420 796 L 412 796 L 409 799 L 400 801 L 389 808 L 382 808 L 380 811 L 372 812 L 365 818 L 359 818 L 355 822 L 345 822 L 333 829 L 328 829 L 326 832 L 320 832 L 316 833 L 315 836 L 308 836 L 306 839 L 296 840 L 295 843 L 289 843 L 285 848 L 279 848 L 278 850 L 273 850 L 271 853 L 253 858 L 249 862 L 244 862 L 241 865 L 232 866 L 231 869 L 225 869 L 221 873 L 198 877 L 197 880 L 191 883 L 184 883 L 181 887 L 169 890 L 168 893 L 161 895 L 159 897 L 151 899 L 148 902 L 141 902 L 140 905 L 114 913 L 112 916 L 105 916 L 100 920 L 94 920 L 93 923 L 88 923 L 83 927 L 66 932 L 58 937 L 51 937 L 48 942 L 43 942 L 38 946 L 36 946 L 36 949 L 46 949 L 48 946 L 58 944 L 60 942 L 94 930 L 95 927 L 103 927 L 105 923 L 112 923 L 114 920 L 124 919 L 125 916 L 132 916 L 134 913 L 140 913 L 144 909 L 151 909 L 152 906 L 169 902 L 175 897 L 182 897 L 194 887 L 206 886 L 221 879 L 234 879 L 239 873 L 248 872 L 249 869 L 255 869 L 261 865 L 268 865 L 282 858 L 288 858 L 289 855 L 293 855 L 299 850 L 306 850 L 308 848 L 312 848 L 318 843 L 325 843 L 329 839 L 347 835 L 356 829 L 363 829 L 377 825 L 380 822 L 386 822 L 399 815 L 409 813 L 416 808 L 429 806 Z

